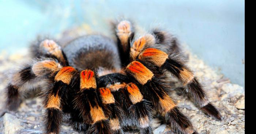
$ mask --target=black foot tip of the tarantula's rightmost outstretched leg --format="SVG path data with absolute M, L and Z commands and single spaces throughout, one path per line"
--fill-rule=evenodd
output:
M 201 108 L 206 114 L 210 115 L 211 117 L 214 117 L 215 119 L 222 121 L 222 116 L 219 113 L 219 111 L 211 105 L 211 103 L 208 103 L 206 106 L 203 106 Z

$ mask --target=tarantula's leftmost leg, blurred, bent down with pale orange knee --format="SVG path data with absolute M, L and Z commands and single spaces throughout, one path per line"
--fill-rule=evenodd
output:
M 40 60 L 40 59 L 39 59 Z M 48 64 L 49 63 L 49 64 Z M 33 61 L 33 64 L 25 65 L 17 72 L 11 74 L 10 83 L 6 87 L 8 110 L 16 110 L 21 102 L 22 95 L 43 84 L 43 76 L 48 76 L 59 69 L 59 63 L 54 60 Z

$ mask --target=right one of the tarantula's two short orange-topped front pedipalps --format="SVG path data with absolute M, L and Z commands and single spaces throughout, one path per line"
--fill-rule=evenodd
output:
M 127 84 L 126 90 L 133 104 L 129 110 L 131 113 L 134 113 L 135 119 L 137 119 L 136 122 L 140 129 L 140 134 L 153 134 L 150 126 L 152 120 L 151 103 L 143 99 L 143 95 L 136 84 Z

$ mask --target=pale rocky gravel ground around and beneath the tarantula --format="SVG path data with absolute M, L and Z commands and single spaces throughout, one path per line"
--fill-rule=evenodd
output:
M 7 84 L 5 73 L 10 67 L 28 60 L 27 51 L 8 55 L 0 54 L 0 134 L 43 134 L 43 108 L 41 99 L 35 97 L 22 102 L 16 112 L 5 112 L 4 88 Z M 216 121 L 200 111 L 191 100 L 181 94 L 179 107 L 182 113 L 191 119 L 195 129 L 200 134 L 243 134 L 245 133 L 245 96 L 244 88 L 231 83 L 228 78 L 217 70 L 207 66 L 196 55 L 190 55 L 189 66 L 208 91 L 209 99 L 220 110 L 223 120 Z M 154 134 L 174 134 L 166 124 L 154 120 Z M 82 134 L 72 129 L 68 124 L 61 126 L 61 134 Z

